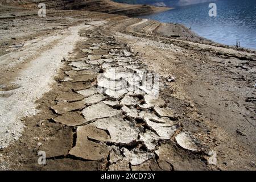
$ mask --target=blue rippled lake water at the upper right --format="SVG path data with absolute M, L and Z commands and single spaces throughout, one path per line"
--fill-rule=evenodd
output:
M 140 16 L 164 23 L 181 23 L 204 38 L 233 46 L 256 49 L 256 0 L 217 0 L 217 16 L 210 17 L 209 3 L 176 7 Z

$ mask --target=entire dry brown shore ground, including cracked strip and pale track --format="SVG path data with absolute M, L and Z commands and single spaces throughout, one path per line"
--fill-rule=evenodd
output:
M 1 169 L 255 170 L 255 51 L 120 15 L 11 20 L 1 18 Z M 106 88 L 119 84 L 109 68 L 159 75 L 158 99 Z

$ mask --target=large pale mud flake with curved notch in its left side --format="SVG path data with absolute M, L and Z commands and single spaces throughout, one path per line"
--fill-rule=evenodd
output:
M 129 144 L 138 138 L 139 129 L 135 123 L 123 121 L 119 117 L 98 119 L 93 123 L 98 129 L 106 130 L 110 134 L 108 142 Z

